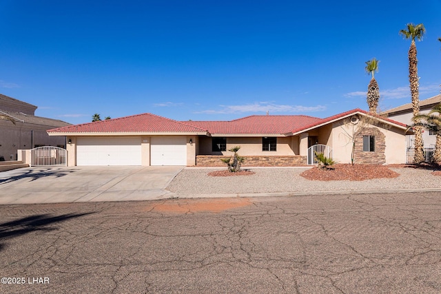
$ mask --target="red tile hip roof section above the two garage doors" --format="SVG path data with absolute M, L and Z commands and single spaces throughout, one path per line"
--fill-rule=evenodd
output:
M 48 130 L 48 133 L 106 132 L 206 132 L 206 130 L 155 114 L 136 114 Z

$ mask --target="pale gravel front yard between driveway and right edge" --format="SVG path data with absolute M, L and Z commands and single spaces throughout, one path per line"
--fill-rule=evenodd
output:
M 281 193 L 314 191 L 365 191 L 441 188 L 440 176 L 428 169 L 391 168 L 400 176 L 373 180 L 349 181 L 307 180 L 300 176 L 307 167 L 249 168 L 249 176 L 208 176 L 216 169 L 187 167 L 168 185 L 167 190 L 177 194 L 210 193 Z M 220 170 L 220 169 L 219 169 Z M 416 180 L 413 180 L 416 179 Z

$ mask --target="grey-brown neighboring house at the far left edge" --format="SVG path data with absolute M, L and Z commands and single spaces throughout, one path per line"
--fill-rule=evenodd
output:
M 0 94 L 0 160 L 17 160 L 17 149 L 52 145 L 65 147 L 65 137 L 48 136 L 48 129 L 70 125 L 35 116 L 37 106 Z M 12 123 L 11 120 L 14 120 Z

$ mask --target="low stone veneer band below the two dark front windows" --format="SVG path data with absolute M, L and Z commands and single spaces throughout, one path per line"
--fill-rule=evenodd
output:
M 198 167 L 225 167 L 220 158 L 229 156 L 198 155 L 196 156 L 196 166 Z M 306 156 L 244 156 L 243 167 L 295 167 L 306 165 Z

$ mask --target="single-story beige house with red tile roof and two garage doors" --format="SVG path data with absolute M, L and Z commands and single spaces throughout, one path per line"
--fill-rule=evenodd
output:
M 50 129 L 66 136 L 68 166 L 222 166 L 220 157 L 240 146 L 244 166 L 307 164 L 310 148 L 327 145 L 334 160 L 351 162 L 348 134 L 365 118 L 371 124 L 356 137 L 356 163 L 403 163 L 407 125 L 353 109 L 329 118 L 247 116 L 231 121 L 176 121 L 139 114 Z M 402 150 L 402 151 L 401 151 Z

